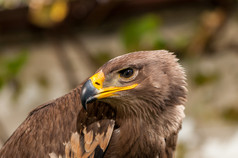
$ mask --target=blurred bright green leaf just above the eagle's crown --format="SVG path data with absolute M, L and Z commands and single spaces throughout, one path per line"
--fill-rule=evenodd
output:
M 128 21 L 121 31 L 125 47 L 128 50 L 140 48 L 140 43 L 146 36 L 150 36 L 154 42 L 159 26 L 160 20 L 158 16 L 153 14 Z

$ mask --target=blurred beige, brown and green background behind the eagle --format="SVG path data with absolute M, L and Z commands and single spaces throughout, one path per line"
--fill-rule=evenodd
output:
M 0 147 L 107 60 L 157 49 L 188 78 L 176 158 L 237 158 L 237 0 L 0 0 Z

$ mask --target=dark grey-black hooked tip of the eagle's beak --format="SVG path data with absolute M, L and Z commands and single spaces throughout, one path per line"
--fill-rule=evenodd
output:
M 88 80 L 82 87 L 81 90 L 81 103 L 85 110 L 87 110 L 87 104 L 95 101 L 97 98 L 95 95 L 97 94 L 97 89 L 93 86 L 92 81 Z

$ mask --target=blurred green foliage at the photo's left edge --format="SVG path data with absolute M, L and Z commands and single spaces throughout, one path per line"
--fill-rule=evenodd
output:
M 22 50 L 13 57 L 0 57 L 0 89 L 16 77 L 27 60 L 28 52 Z

